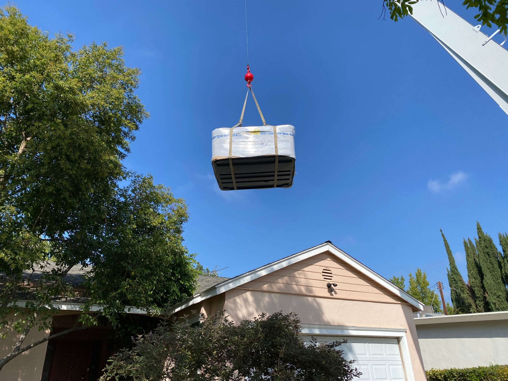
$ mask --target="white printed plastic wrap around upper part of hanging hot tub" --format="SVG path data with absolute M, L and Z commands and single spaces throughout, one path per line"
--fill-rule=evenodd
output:
M 279 156 L 295 157 L 295 128 L 290 124 L 277 125 L 277 150 Z M 212 161 L 229 157 L 230 130 L 215 129 L 212 132 Z M 275 154 L 273 126 L 236 127 L 233 130 L 232 157 L 253 157 Z

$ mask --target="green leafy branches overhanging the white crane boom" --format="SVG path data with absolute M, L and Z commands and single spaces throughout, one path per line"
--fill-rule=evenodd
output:
M 399 18 L 412 14 L 412 5 L 420 0 L 383 0 L 383 11 L 385 12 L 385 4 L 389 10 L 390 18 L 397 21 Z M 444 7 L 444 1 L 441 0 L 441 7 Z M 501 29 L 501 33 L 507 34 L 508 26 L 508 2 L 506 0 L 464 0 L 462 5 L 467 8 L 478 10 L 478 14 L 474 16 L 482 25 L 491 27 L 497 26 Z M 437 5 L 439 6 L 439 4 Z

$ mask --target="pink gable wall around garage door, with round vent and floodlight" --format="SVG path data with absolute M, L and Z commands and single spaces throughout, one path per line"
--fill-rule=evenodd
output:
M 337 284 L 333 292 L 324 269 Z M 404 329 L 415 380 L 426 380 L 414 307 L 328 251 L 252 279 L 186 313 L 196 309 L 206 315 L 225 309 L 234 322 L 283 311 L 296 312 L 302 324 Z

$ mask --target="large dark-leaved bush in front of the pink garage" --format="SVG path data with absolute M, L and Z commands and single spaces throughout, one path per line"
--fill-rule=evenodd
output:
M 294 313 L 261 314 L 235 326 L 224 312 L 164 322 L 114 355 L 101 380 L 346 381 L 359 376 L 342 356 L 344 341 L 307 343 Z

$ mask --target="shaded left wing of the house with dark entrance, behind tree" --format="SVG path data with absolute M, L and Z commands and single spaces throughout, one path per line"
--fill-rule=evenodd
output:
M 44 264 L 46 271 L 55 268 L 52 262 Z M 41 340 L 48 335 L 54 335 L 75 326 L 77 317 L 86 301 L 83 298 L 84 273 L 86 269 L 74 266 L 65 276 L 64 281 L 72 285 L 75 297 L 58 298 L 53 305 L 58 307 L 58 313 L 53 315 L 51 332 L 39 331 L 34 327 L 28 332 L 23 346 Z M 40 279 L 42 270 L 37 268 L 34 272 L 27 271 L 25 275 L 33 279 Z M 18 304 L 24 306 L 25 301 Z M 99 311 L 101 306 L 93 306 L 91 311 Z M 136 308 L 127 310 L 128 313 L 141 314 L 144 311 Z M 12 321 L 13 316 L 7 320 Z M 146 319 L 154 319 L 146 316 Z M 0 371 L 2 381 L 67 381 L 85 380 L 95 381 L 101 370 L 106 366 L 106 360 L 116 353 L 117 348 L 112 345 L 113 329 L 109 326 L 88 328 L 84 331 L 75 331 L 39 344 L 20 354 Z M 10 353 L 19 335 L 9 333 L 6 339 L 0 339 L 0 358 Z

